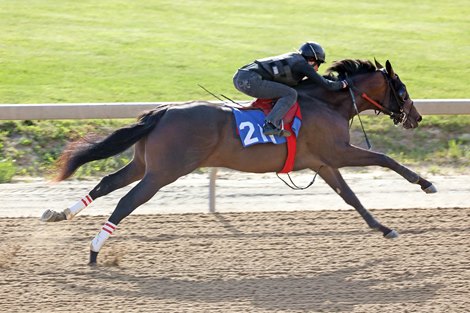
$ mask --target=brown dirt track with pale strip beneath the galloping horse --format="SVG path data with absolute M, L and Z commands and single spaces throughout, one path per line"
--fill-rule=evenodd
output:
M 87 265 L 89 243 L 119 193 L 46 224 L 46 207 L 63 209 L 96 182 L 0 185 L 0 312 L 469 312 L 468 177 L 430 179 L 438 196 L 370 175 L 345 178 L 396 240 L 368 230 L 321 181 L 299 196 L 276 178 L 252 190 L 257 178 L 221 174 L 220 212 L 194 213 L 208 210 L 200 175 L 126 218 L 97 267 Z M 161 214 L 185 205 L 192 213 Z M 138 214 L 152 206 L 160 213 Z

